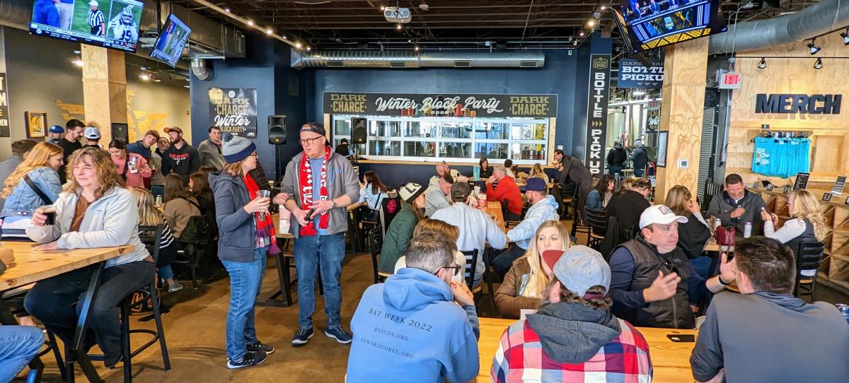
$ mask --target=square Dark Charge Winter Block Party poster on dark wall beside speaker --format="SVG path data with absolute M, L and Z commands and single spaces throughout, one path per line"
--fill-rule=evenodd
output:
M 222 133 L 256 138 L 256 89 L 210 88 L 210 125 Z

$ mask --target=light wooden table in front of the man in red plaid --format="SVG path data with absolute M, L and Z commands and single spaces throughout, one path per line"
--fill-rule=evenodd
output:
M 515 322 L 514 319 L 481 318 L 481 339 L 478 341 L 478 353 L 481 356 L 481 369 L 477 382 L 490 381 L 492 358 L 498 351 L 498 341 L 504 330 Z M 680 383 L 693 381 L 690 372 L 689 357 L 695 342 L 673 342 L 666 338 L 669 334 L 694 334 L 696 330 L 653 329 L 638 327 L 637 330 L 649 342 L 649 356 L 654 366 L 654 382 Z

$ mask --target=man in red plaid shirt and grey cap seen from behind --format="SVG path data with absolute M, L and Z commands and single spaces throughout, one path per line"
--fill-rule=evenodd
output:
M 492 381 L 650 382 L 649 344 L 610 314 L 610 267 L 601 254 L 575 246 L 548 250 L 543 261 L 553 274 L 543 306 L 504 330 Z

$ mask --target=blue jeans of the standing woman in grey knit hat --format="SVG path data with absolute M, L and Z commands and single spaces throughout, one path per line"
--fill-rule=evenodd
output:
M 254 325 L 254 303 L 265 274 L 268 247 L 254 249 L 254 260 L 222 260 L 230 275 L 230 309 L 227 312 L 227 357 L 241 362 L 247 345 L 259 341 Z

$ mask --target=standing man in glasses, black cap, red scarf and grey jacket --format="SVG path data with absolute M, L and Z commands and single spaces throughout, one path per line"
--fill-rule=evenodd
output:
M 306 345 L 313 335 L 318 268 L 321 268 L 327 314 L 324 335 L 343 344 L 351 343 L 351 334 L 340 324 L 339 281 L 348 230 L 346 206 L 359 199 L 360 191 L 351 163 L 330 150 L 325 134 L 324 127 L 317 123 L 301 126 L 299 142 L 304 151 L 286 165 L 280 184 L 280 192 L 291 196 L 284 206 L 292 212 L 289 231 L 295 236 L 293 255 L 298 275 L 299 328 L 292 347 Z

